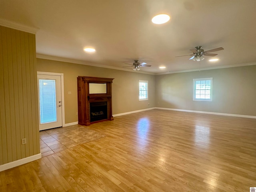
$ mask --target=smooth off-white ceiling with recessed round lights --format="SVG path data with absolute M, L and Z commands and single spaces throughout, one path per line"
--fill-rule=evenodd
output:
M 162 13 L 171 20 L 153 24 Z M 256 64 L 256 0 L 0 0 L 0 20 L 38 28 L 42 58 L 120 69 L 139 60 L 153 74 Z M 214 63 L 175 58 L 195 46 L 224 50 Z

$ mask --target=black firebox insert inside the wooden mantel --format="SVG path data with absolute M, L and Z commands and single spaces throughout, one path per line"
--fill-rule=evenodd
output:
M 107 102 L 90 103 L 90 122 L 108 118 Z

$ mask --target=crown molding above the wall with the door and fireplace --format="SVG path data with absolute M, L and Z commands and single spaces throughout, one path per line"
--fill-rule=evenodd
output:
M 113 66 L 108 66 L 108 65 L 100 65 L 100 64 L 95 64 L 95 63 L 81 61 L 81 60 L 74 60 L 74 59 L 69 59 L 69 58 L 62 58 L 62 57 L 56 57 L 56 56 L 50 56 L 50 55 L 44 55 L 44 54 L 38 54 L 38 53 L 36 54 L 36 58 L 48 59 L 48 60 L 54 60 L 54 61 L 62 61 L 62 62 L 75 63 L 75 64 L 82 64 L 82 65 L 88 65 L 88 66 L 94 66 L 94 67 L 102 67 L 102 68 L 115 69 L 115 70 L 121 70 L 121 71 L 129 71 L 129 72 L 155 75 L 154 73 L 145 72 L 145 71 L 134 71 L 134 70 L 126 69 L 126 68 L 119 68 L 119 67 L 113 67 Z

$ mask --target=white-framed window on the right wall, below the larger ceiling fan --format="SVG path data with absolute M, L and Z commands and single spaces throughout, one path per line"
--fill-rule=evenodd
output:
M 193 101 L 212 101 L 212 78 L 193 79 Z

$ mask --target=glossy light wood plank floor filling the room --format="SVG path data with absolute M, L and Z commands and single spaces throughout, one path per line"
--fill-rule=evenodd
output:
M 0 191 L 244 192 L 256 186 L 256 119 L 155 109 L 84 128 L 104 137 L 0 172 Z

